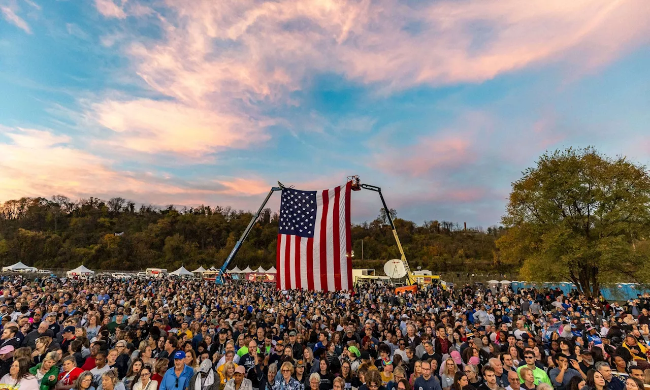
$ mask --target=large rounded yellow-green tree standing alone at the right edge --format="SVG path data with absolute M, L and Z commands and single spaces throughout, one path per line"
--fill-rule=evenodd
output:
M 638 279 L 647 256 L 634 244 L 650 233 L 645 166 L 593 148 L 545 153 L 512 183 L 499 259 L 535 281 L 570 278 L 581 292 Z

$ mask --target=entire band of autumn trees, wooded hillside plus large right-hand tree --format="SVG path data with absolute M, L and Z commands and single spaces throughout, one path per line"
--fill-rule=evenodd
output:
M 602 283 L 650 283 L 650 172 L 595 148 L 541 155 L 512 183 L 501 226 L 416 224 L 381 209 L 371 222 L 352 226 L 354 266 L 381 269 L 400 257 L 389 215 L 412 269 L 519 272 L 529 281 L 570 280 L 585 294 Z M 123 270 L 220 266 L 251 217 L 231 207 L 138 207 L 123 198 L 9 200 L 0 205 L 0 262 Z M 274 265 L 277 237 L 278 214 L 265 209 L 231 266 Z

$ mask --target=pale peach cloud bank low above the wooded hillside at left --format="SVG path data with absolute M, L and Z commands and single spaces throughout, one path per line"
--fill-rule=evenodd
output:
M 71 198 L 123 196 L 155 204 L 231 204 L 254 207 L 270 185 L 256 178 L 217 178 L 197 183 L 167 174 L 113 168 L 114 161 L 77 149 L 68 136 L 35 129 L 0 129 L 0 200 L 64 194 Z M 242 198 L 244 197 L 244 198 Z

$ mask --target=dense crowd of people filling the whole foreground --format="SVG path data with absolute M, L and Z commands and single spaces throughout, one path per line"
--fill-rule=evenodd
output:
M 650 295 L 0 276 L 0 390 L 643 390 Z

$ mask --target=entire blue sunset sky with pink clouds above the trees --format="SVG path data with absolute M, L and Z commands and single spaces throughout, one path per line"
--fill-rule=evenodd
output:
M 650 160 L 647 0 L 0 0 L 0 200 L 257 208 L 358 174 L 490 226 L 540 153 Z M 279 197 L 271 205 L 279 208 Z M 372 219 L 356 192 L 353 220 Z

